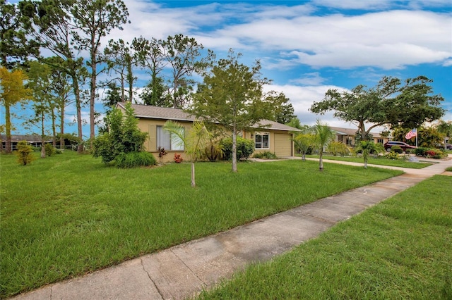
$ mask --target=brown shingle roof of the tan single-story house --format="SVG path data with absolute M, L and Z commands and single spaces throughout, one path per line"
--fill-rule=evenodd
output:
M 121 108 L 125 107 L 124 103 L 118 103 Z M 178 121 L 191 121 L 195 120 L 193 115 L 182 111 L 178 108 L 168 108 L 159 106 L 150 106 L 143 104 L 132 104 L 132 108 L 135 111 L 137 118 L 150 118 L 150 119 L 162 119 L 162 120 L 178 120 Z M 270 125 L 267 127 L 266 125 Z M 290 127 L 284 124 L 280 124 L 270 120 L 261 120 L 258 124 L 252 126 L 253 128 L 264 127 L 272 130 L 281 131 L 299 131 L 297 128 Z

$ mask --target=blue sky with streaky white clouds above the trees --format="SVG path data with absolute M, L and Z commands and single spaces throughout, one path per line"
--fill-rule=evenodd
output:
M 273 80 L 266 89 L 284 92 L 302 124 L 320 118 L 354 128 L 332 113 L 315 115 L 308 109 L 330 88 L 374 87 L 385 75 L 434 80 L 434 93 L 445 99 L 444 120 L 452 120 L 451 0 L 124 2 L 131 23 L 107 39 L 130 42 L 141 35 L 166 39 L 182 33 L 217 58 L 232 48 L 243 54 L 242 63 L 258 59 L 263 76 Z M 141 85 L 146 80 L 141 77 Z M 89 120 L 88 108 L 83 115 Z M 88 127 L 83 130 L 88 135 Z

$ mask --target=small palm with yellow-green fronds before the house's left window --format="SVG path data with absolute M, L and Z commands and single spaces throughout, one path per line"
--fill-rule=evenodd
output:
M 168 120 L 163 128 L 173 135 L 179 137 L 179 141 L 184 144 L 186 154 L 190 156 L 191 161 L 191 187 L 196 187 L 195 182 L 195 163 L 202 158 L 206 150 L 206 144 L 210 139 L 210 132 L 200 121 L 194 121 L 193 126 L 185 135 L 184 127 L 178 123 Z

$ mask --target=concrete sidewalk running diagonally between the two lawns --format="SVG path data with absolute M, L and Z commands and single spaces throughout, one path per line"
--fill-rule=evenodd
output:
M 403 169 L 403 175 L 135 258 L 84 277 L 47 285 L 13 299 L 186 299 L 203 288 L 213 287 L 250 263 L 268 261 L 290 251 L 335 223 L 427 177 L 444 173 L 449 166 L 452 166 L 452 160 L 419 170 Z

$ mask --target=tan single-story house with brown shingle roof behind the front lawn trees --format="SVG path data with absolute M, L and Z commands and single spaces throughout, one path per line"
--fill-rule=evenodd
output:
M 124 111 L 125 104 L 118 103 L 117 108 Z M 135 111 L 136 118 L 138 118 L 138 128 L 142 132 L 148 132 L 148 139 L 145 141 L 146 151 L 151 152 L 155 158 L 158 158 L 157 149 L 160 146 L 168 151 L 162 161 L 172 161 L 174 154 L 181 154 L 186 159 L 184 147 L 179 145 L 179 139 L 163 130 L 163 125 L 167 120 L 172 120 L 188 131 L 195 120 L 194 116 L 177 108 L 142 104 L 132 104 L 132 108 Z M 270 120 L 261 120 L 250 130 L 242 132 L 242 137 L 254 140 L 255 153 L 270 151 L 278 157 L 286 157 L 295 154 L 294 143 L 292 142 L 292 132 L 295 131 L 299 130 Z

